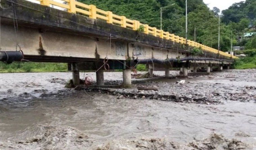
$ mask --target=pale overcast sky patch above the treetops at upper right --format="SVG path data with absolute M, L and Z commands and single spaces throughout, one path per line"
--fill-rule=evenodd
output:
M 213 7 L 219 8 L 221 11 L 227 9 L 233 3 L 237 3 L 245 0 L 203 0 L 208 7 L 212 9 Z

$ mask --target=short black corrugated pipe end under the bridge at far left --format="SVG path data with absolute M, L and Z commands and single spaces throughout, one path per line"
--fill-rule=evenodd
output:
M 23 59 L 22 51 L 0 51 L 0 61 L 11 63 Z

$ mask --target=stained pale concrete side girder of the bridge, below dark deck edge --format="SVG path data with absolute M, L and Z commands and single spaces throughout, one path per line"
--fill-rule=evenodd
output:
M 17 32 L 12 24 L 1 24 L 2 29 L 2 50 L 15 51 L 16 41 L 25 55 L 44 55 L 44 56 L 62 56 L 62 57 L 82 57 L 100 59 L 108 57 L 109 59 L 126 60 L 130 58 L 169 58 L 185 57 L 175 50 L 153 48 L 149 45 L 140 43 L 129 43 L 123 40 L 108 38 L 88 37 L 85 34 L 70 34 L 46 30 L 39 32 L 36 28 L 20 26 Z M 40 52 L 44 51 L 44 53 Z

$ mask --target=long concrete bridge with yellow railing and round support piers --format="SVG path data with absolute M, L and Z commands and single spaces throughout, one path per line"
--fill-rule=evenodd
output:
M 0 61 L 65 62 L 79 84 L 79 70 L 96 70 L 104 85 L 105 69 L 123 69 L 123 86 L 131 70 L 212 66 L 229 68 L 235 56 L 150 27 L 136 20 L 75 0 L 1 0 Z M 203 53 L 191 53 L 193 49 Z

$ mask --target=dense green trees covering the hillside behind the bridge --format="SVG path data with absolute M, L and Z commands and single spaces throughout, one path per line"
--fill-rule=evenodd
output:
M 143 24 L 160 29 L 160 8 L 163 7 L 163 30 L 185 37 L 185 0 L 78 0 L 94 4 L 97 8 L 112 11 L 119 16 L 138 20 Z M 220 10 L 210 10 L 203 0 L 188 1 L 188 38 L 218 49 L 218 26 Z M 231 31 L 233 37 L 256 25 L 256 2 L 235 3 L 223 11 L 221 16 L 220 47 L 229 51 Z M 139 29 L 141 30 L 141 29 Z M 196 30 L 196 37 L 194 37 Z M 237 41 L 234 39 L 233 44 Z

